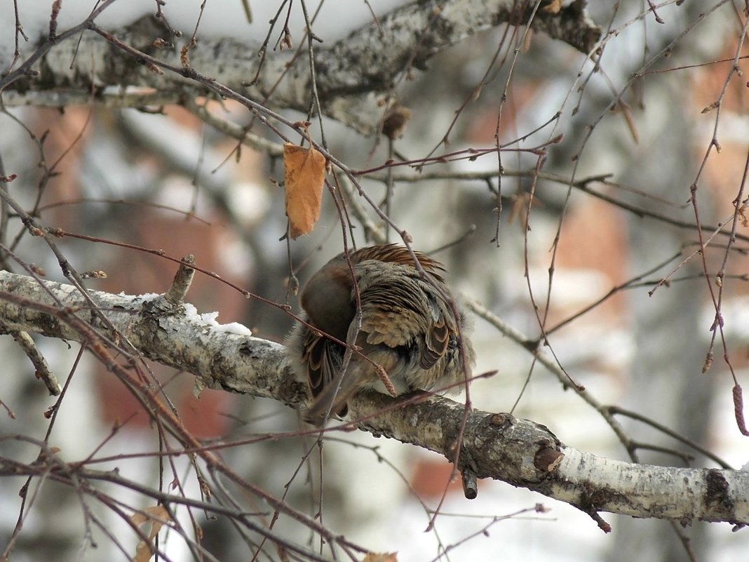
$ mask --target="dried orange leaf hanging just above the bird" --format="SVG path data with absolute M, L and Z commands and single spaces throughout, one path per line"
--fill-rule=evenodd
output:
M 325 181 L 325 157 L 315 148 L 283 145 L 286 216 L 291 238 L 312 232 L 320 218 Z

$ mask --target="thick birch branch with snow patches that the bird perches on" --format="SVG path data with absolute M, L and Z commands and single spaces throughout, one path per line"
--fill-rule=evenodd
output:
M 65 321 L 67 314 L 75 313 L 104 338 L 127 338 L 144 357 L 191 372 L 207 387 L 277 399 L 294 408 L 305 405 L 306 387 L 294 379 L 282 345 L 187 315 L 185 306 L 175 304 L 169 294 L 89 294 L 120 333 L 101 327 L 71 285 L 40 284 L 0 271 L 0 331 L 82 341 Z M 459 438 L 463 405 L 438 396 L 416 396 L 407 402 L 363 393 L 350 402 L 350 410 L 360 429 L 434 450 L 450 461 L 455 460 L 459 443 L 458 468 L 468 489 L 476 478 L 503 480 L 574 505 L 604 530 L 607 524 L 598 512 L 682 523 L 749 522 L 748 472 L 604 459 L 566 447 L 545 426 L 509 414 L 470 411 Z

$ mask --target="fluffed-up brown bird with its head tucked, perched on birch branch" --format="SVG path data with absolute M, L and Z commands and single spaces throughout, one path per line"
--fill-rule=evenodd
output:
M 452 297 L 444 271 L 425 253 L 377 244 L 340 253 L 309 278 L 300 294 L 304 323 L 295 324 L 286 339 L 291 366 L 306 378 L 312 394 L 308 423 L 324 425 L 329 412 L 345 417 L 348 400 L 362 388 L 396 396 L 461 390 L 476 354 L 470 323 Z M 361 328 L 354 336 L 357 306 Z M 342 342 L 350 337 L 360 351 L 351 354 L 342 372 Z M 380 369 L 392 382 L 389 389 Z

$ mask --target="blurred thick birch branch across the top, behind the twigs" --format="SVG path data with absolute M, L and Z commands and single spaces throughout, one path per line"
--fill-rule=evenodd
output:
M 379 25 L 366 25 L 330 46 L 315 43 L 322 111 L 357 130 L 372 133 L 383 113 L 382 101 L 401 73 L 411 68 L 423 70 L 437 52 L 503 23 L 530 25 L 588 53 L 601 29 L 587 16 L 586 1 L 565 4 L 556 12 L 545 7 L 534 12 L 536 1 L 526 0 L 417 1 L 392 10 Z M 114 36 L 161 61 L 162 68 L 180 70 L 189 64 L 201 76 L 210 76 L 210 80 L 251 100 L 267 100 L 263 103 L 268 107 L 305 113 L 310 107 L 312 83 L 306 55 L 294 58 L 291 52 L 267 52 L 264 58 L 258 58 L 255 49 L 244 43 L 198 37 L 198 45 L 189 49 L 187 58 L 181 58 L 179 46 L 154 46 L 158 38 L 168 42 L 169 34 L 153 18 L 141 19 L 115 31 Z M 184 73 L 186 77 L 178 71 L 159 73 L 145 59 L 123 52 L 91 31 L 61 31 L 58 37 L 47 37 L 40 43 L 37 56 L 27 60 L 28 64 L 21 64 L 0 79 L 5 106 L 92 102 L 146 106 L 184 103 L 206 93 L 190 73 Z M 106 91 L 107 86 L 118 88 Z M 154 91 L 123 92 L 120 87 L 124 86 Z

